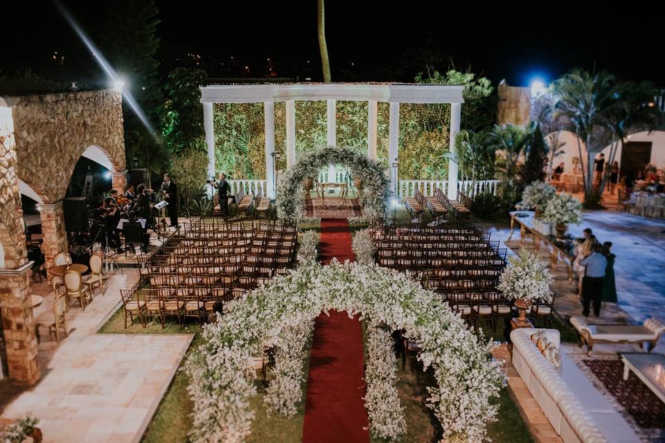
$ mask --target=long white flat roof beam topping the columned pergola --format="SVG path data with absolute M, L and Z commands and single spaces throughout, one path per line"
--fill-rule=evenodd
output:
M 409 83 L 213 84 L 201 87 L 201 102 L 373 100 L 398 103 L 462 103 L 463 89 L 463 86 L 456 84 Z

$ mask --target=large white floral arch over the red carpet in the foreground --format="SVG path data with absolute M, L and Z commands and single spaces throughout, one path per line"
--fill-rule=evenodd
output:
M 321 311 L 360 314 L 375 324 L 417 341 L 418 359 L 432 367 L 436 388 L 428 404 L 441 422 L 443 439 L 482 442 L 486 423 L 496 419 L 492 397 L 506 385 L 494 343 L 473 334 L 465 322 L 432 291 L 407 275 L 380 266 L 332 260 L 311 261 L 269 280 L 265 286 L 228 302 L 218 323 L 204 327 L 204 344 L 186 366 L 193 400 L 193 442 L 242 442 L 251 433 L 254 411 L 254 356 L 281 343 L 283 334 L 305 328 Z M 303 330 L 299 329 L 299 330 Z M 303 337 L 303 335 L 301 335 Z M 299 341 L 299 346 L 302 341 Z M 299 354 L 300 356 L 301 354 Z M 299 360 L 296 356 L 296 360 Z M 297 363 L 301 367 L 301 363 Z M 298 380 L 296 368 L 283 381 Z M 288 400 L 269 400 L 271 408 L 289 413 L 286 402 L 299 401 L 293 386 L 275 388 Z M 370 401 L 368 407 L 375 408 Z M 369 416 L 377 417 L 373 410 Z M 377 422 L 381 423 L 381 421 Z

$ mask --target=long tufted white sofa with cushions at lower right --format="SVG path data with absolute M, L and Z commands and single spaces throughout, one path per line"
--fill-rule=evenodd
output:
M 601 395 L 563 350 L 561 365 L 554 368 L 531 341 L 539 329 L 511 332 L 513 366 L 563 442 L 639 442 L 635 431 Z M 559 332 L 545 329 L 557 347 Z

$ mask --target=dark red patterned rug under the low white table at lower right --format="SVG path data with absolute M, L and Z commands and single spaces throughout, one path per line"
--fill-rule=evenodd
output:
M 586 374 L 596 389 L 617 408 L 640 440 L 665 442 L 665 404 L 635 374 L 623 381 L 623 363 L 616 352 L 596 352 L 589 358 L 586 349 L 566 346 L 565 352 Z

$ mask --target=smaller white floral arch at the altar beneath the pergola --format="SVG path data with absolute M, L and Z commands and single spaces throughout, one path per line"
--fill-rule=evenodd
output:
M 279 219 L 295 222 L 303 218 L 301 183 L 305 177 L 315 177 L 320 168 L 329 164 L 347 165 L 353 177 L 362 179 L 365 188 L 360 201 L 366 217 L 381 219 L 385 216 L 390 186 L 381 165 L 346 147 L 326 146 L 300 156 L 279 178 L 276 202 Z

